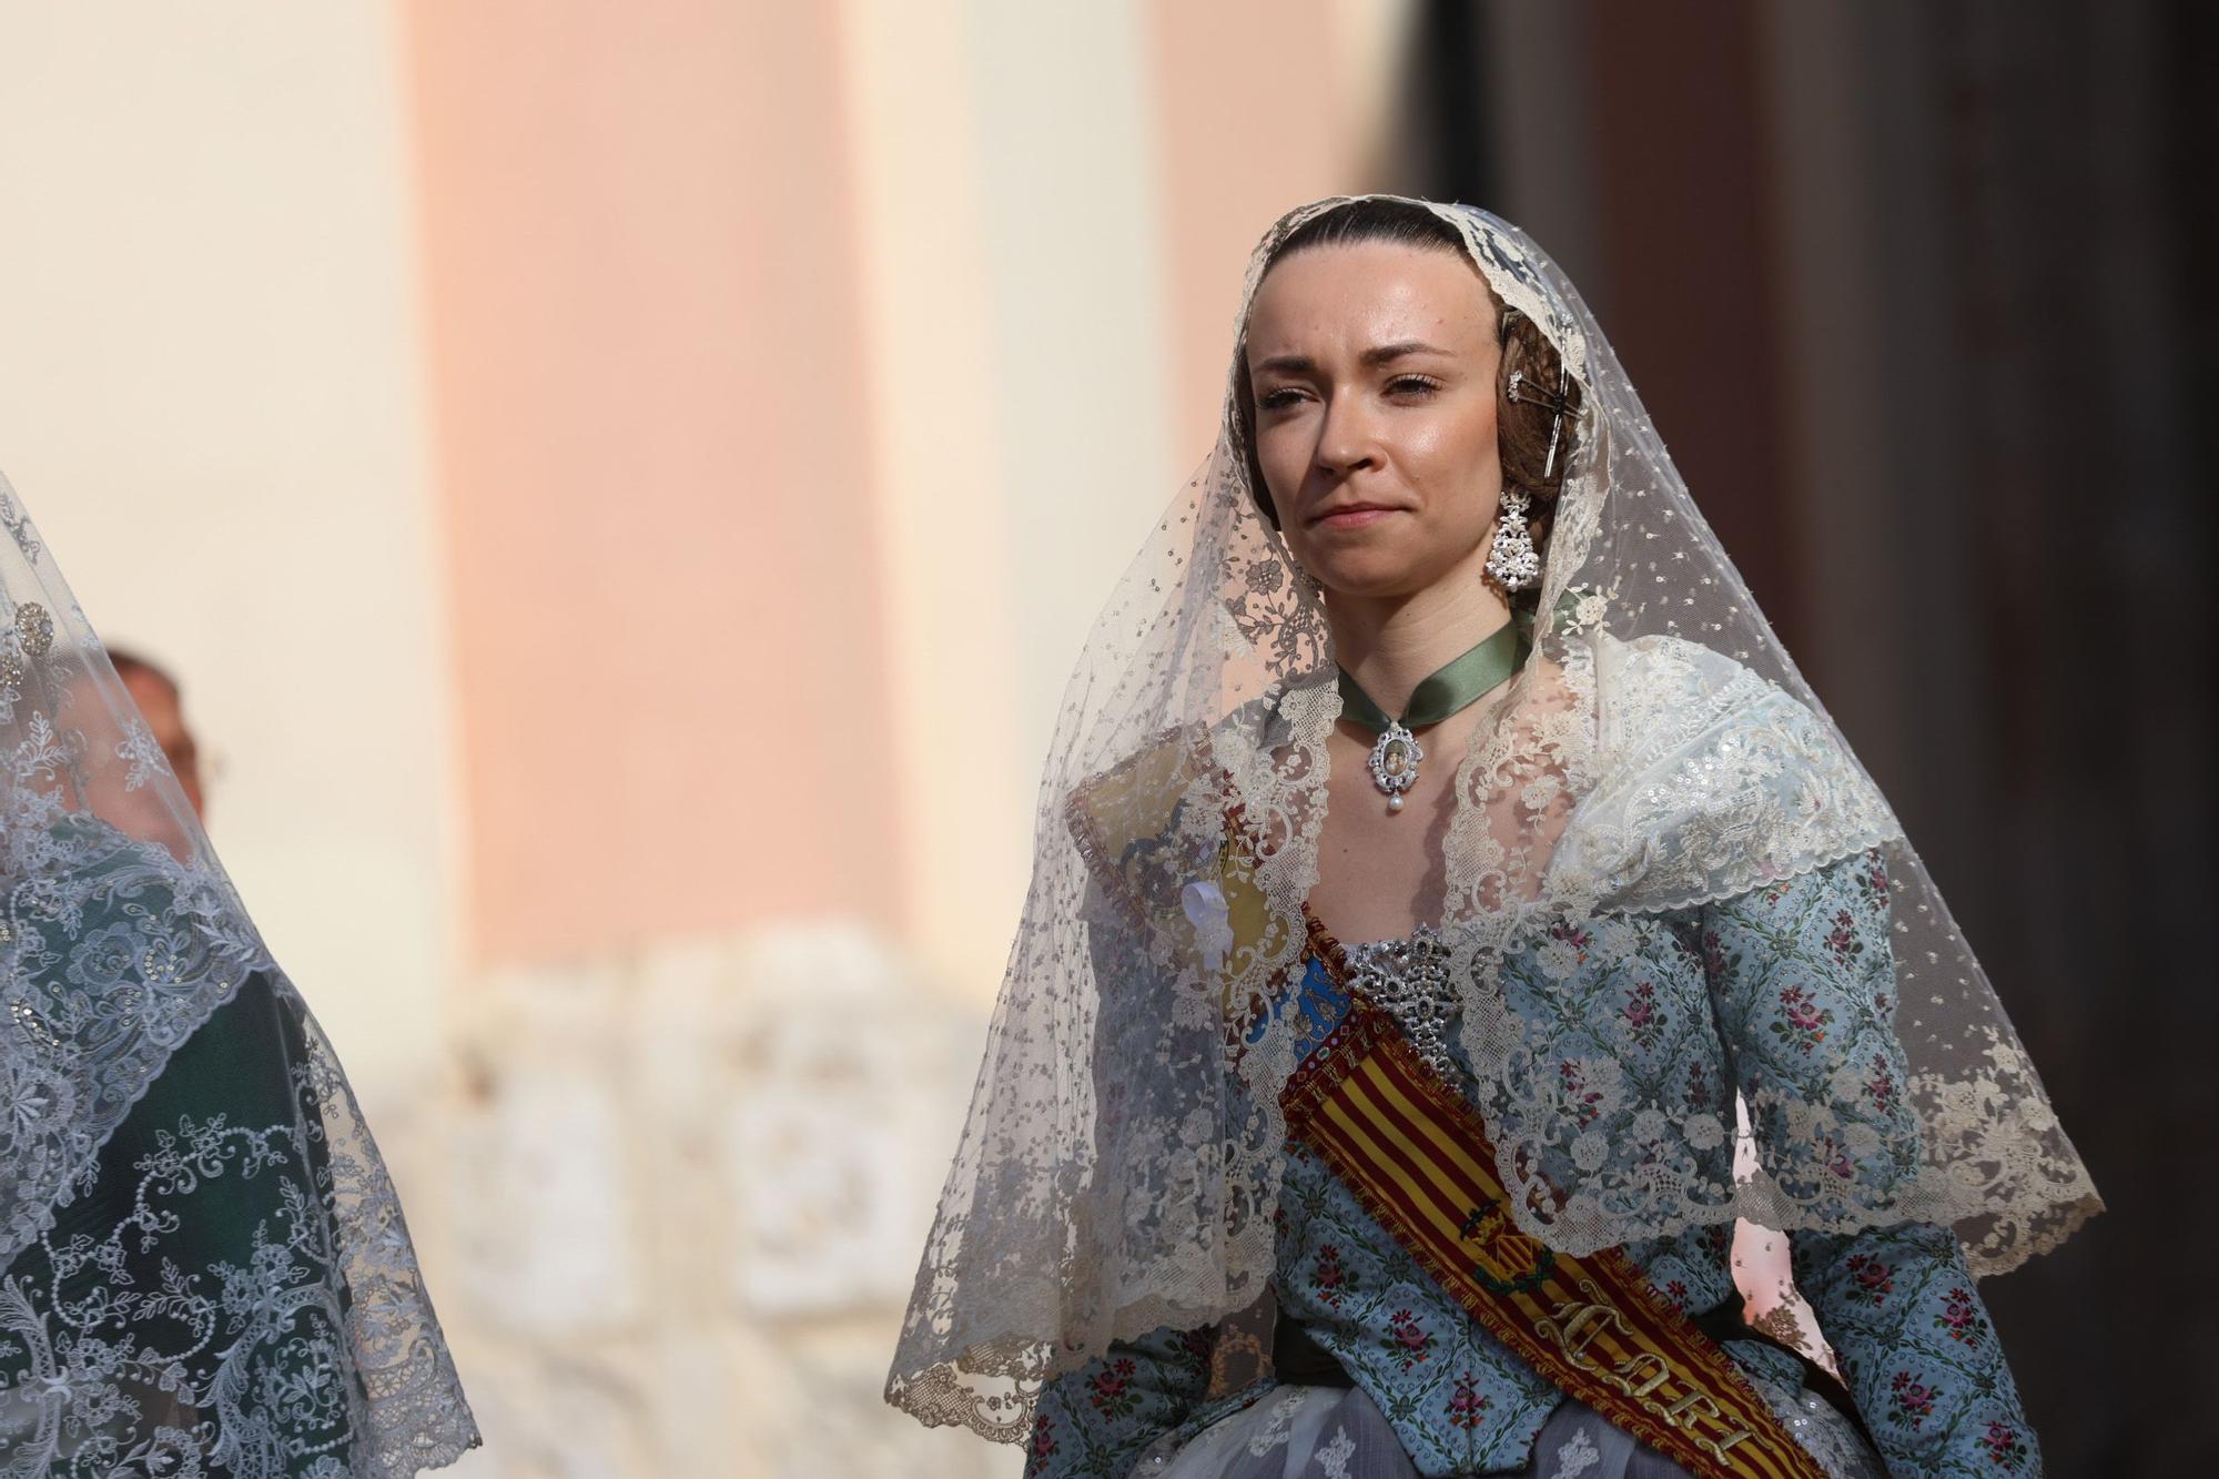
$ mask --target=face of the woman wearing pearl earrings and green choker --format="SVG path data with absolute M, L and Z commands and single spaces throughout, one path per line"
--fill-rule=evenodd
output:
M 1500 358 L 1462 253 L 1351 242 L 1265 275 L 1247 322 L 1256 462 L 1287 546 L 1327 591 L 1411 595 L 1485 560 Z

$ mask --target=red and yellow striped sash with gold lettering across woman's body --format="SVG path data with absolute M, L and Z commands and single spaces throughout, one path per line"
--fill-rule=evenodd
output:
M 1509 1217 L 1478 1113 L 1362 997 L 1287 1081 L 1325 1157 L 1476 1321 L 1558 1390 L 1693 1475 L 1826 1479 L 1773 1408 L 1618 1248 L 1569 1257 Z

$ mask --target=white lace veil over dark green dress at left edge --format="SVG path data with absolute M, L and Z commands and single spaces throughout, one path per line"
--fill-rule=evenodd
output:
M 0 1475 L 448 1463 L 477 1428 L 340 1062 L 4 477 L 0 526 Z M 104 1166 L 249 993 L 253 1062 Z

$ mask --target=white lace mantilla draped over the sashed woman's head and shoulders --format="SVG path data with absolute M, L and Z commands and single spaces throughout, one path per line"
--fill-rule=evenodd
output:
M 1274 247 L 1336 204 L 1263 238 L 1240 324 Z M 1520 1226 L 1582 1255 L 1735 1217 L 1919 1219 L 1953 1226 L 1982 1275 L 2059 1244 L 2101 1206 L 2079 1155 L 1593 313 L 1518 227 L 1425 204 L 1582 391 L 1533 657 L 1476 726 L 1445 859 L 1462 1042 Z M 888 1381 L 925 1423 L 1023 1439 L 1043 1379 L 1112 1339 L 1236 1315 L 1274 1275 L 1278 1090 L 1296 1066 L 1280 1013 L 1340 697 L 1316 586 L 1252 497 L 1234 393 L 1065 691 L 1023 922 Z M 1227 906 L 1232 944 L 1187 888 L 1223 875 L 1229 833 L 1254 866 Z M 1844 1064 L 1824 1101 L 1760 1088 L 1749 1179 L 1702 1155 L 1733 1135 L 1731 1110 L 1644 1097 L 1607 1048 L 1580 1048 L 1575 1108 L 1558 1028 L 1496 986 L 1509 950 L 1631 950 L 1624 915 L 1857 855 L 1884 868 L 1868 884 L 1895 935 L 1895 990 L 1860 1006 L 1893 1015 L 1902 1057 Z

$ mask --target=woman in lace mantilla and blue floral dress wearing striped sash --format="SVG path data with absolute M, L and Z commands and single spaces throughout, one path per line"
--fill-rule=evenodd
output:
M 1041 1479 L 2039 1472 L 1975 1277 L 2095 1188 L 1522 231 L 1265 235 L 1054 746 L 894 1403 Z

